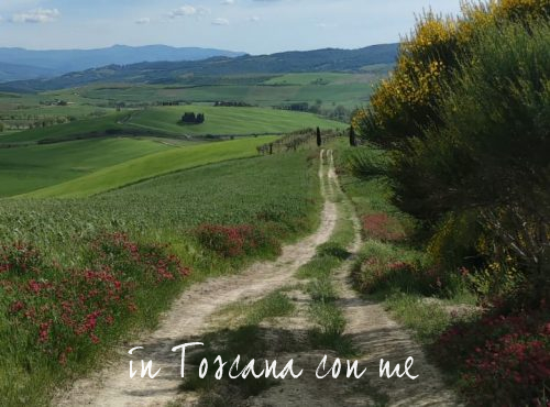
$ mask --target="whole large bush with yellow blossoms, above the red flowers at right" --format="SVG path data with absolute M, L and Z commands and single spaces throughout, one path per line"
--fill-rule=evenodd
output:
M 548 1 L 428 14 L 354 124 L 388 151 L 396 206 L 424 221 L 441 270 L 520 274 L 518 297 L 550 285 Z M 372 160 L 356 173 L 378 175 Z M 520 276 L 519 276 L 520 277 Z M 495 284 L 497 280 L 495 279 Z

